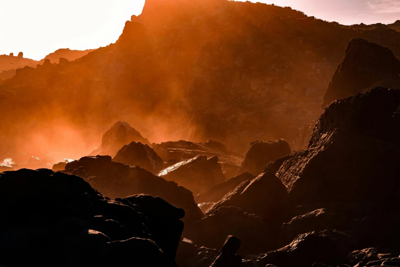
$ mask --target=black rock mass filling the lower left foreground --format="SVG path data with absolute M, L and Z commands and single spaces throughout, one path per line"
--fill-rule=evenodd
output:
M 2 265 L 176 266 L 184 211 L 159 197 L 110 201 L 78 176 L 45 169 L 0 173 L 0 195 Z

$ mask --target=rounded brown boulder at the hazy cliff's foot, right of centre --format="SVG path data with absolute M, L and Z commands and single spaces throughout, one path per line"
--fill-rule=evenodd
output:
M 282 139 L 276 142 L 252 142 L 239 168 L 238 174 L 250 172 L 254 175 L 258 175 L 270 162 L 290 153 L 291 150 L 288 142 Z

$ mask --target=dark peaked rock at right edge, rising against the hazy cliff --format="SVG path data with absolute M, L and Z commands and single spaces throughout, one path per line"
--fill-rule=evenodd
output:
M 379 82 L 399 74 L 400 61 L 391 50 L 364 39 L 354 39 L 349 42 L 346 56 L 333 75 L 322 106 L 336 99 L 357 95 L 372 85 L 385 85 Z M 397 88 L 392 87 L 399 88 L 400 83 Z

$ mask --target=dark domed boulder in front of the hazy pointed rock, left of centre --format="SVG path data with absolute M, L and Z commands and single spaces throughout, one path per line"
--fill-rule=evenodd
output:
M 153 148 L 139 142 L 132 142 L 123 146 L 112 161 L 139 166 L 153 173 L 160 171 L 164 165 Z

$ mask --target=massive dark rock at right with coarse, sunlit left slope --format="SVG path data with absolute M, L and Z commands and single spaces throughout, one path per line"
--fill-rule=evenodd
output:
M 399 103 L 398 92 L 375 88 L 329 105 L 309 148 L 294 153 L 277 172 L 290 197 L 298 205 L 327 201 L 395 205 Z

